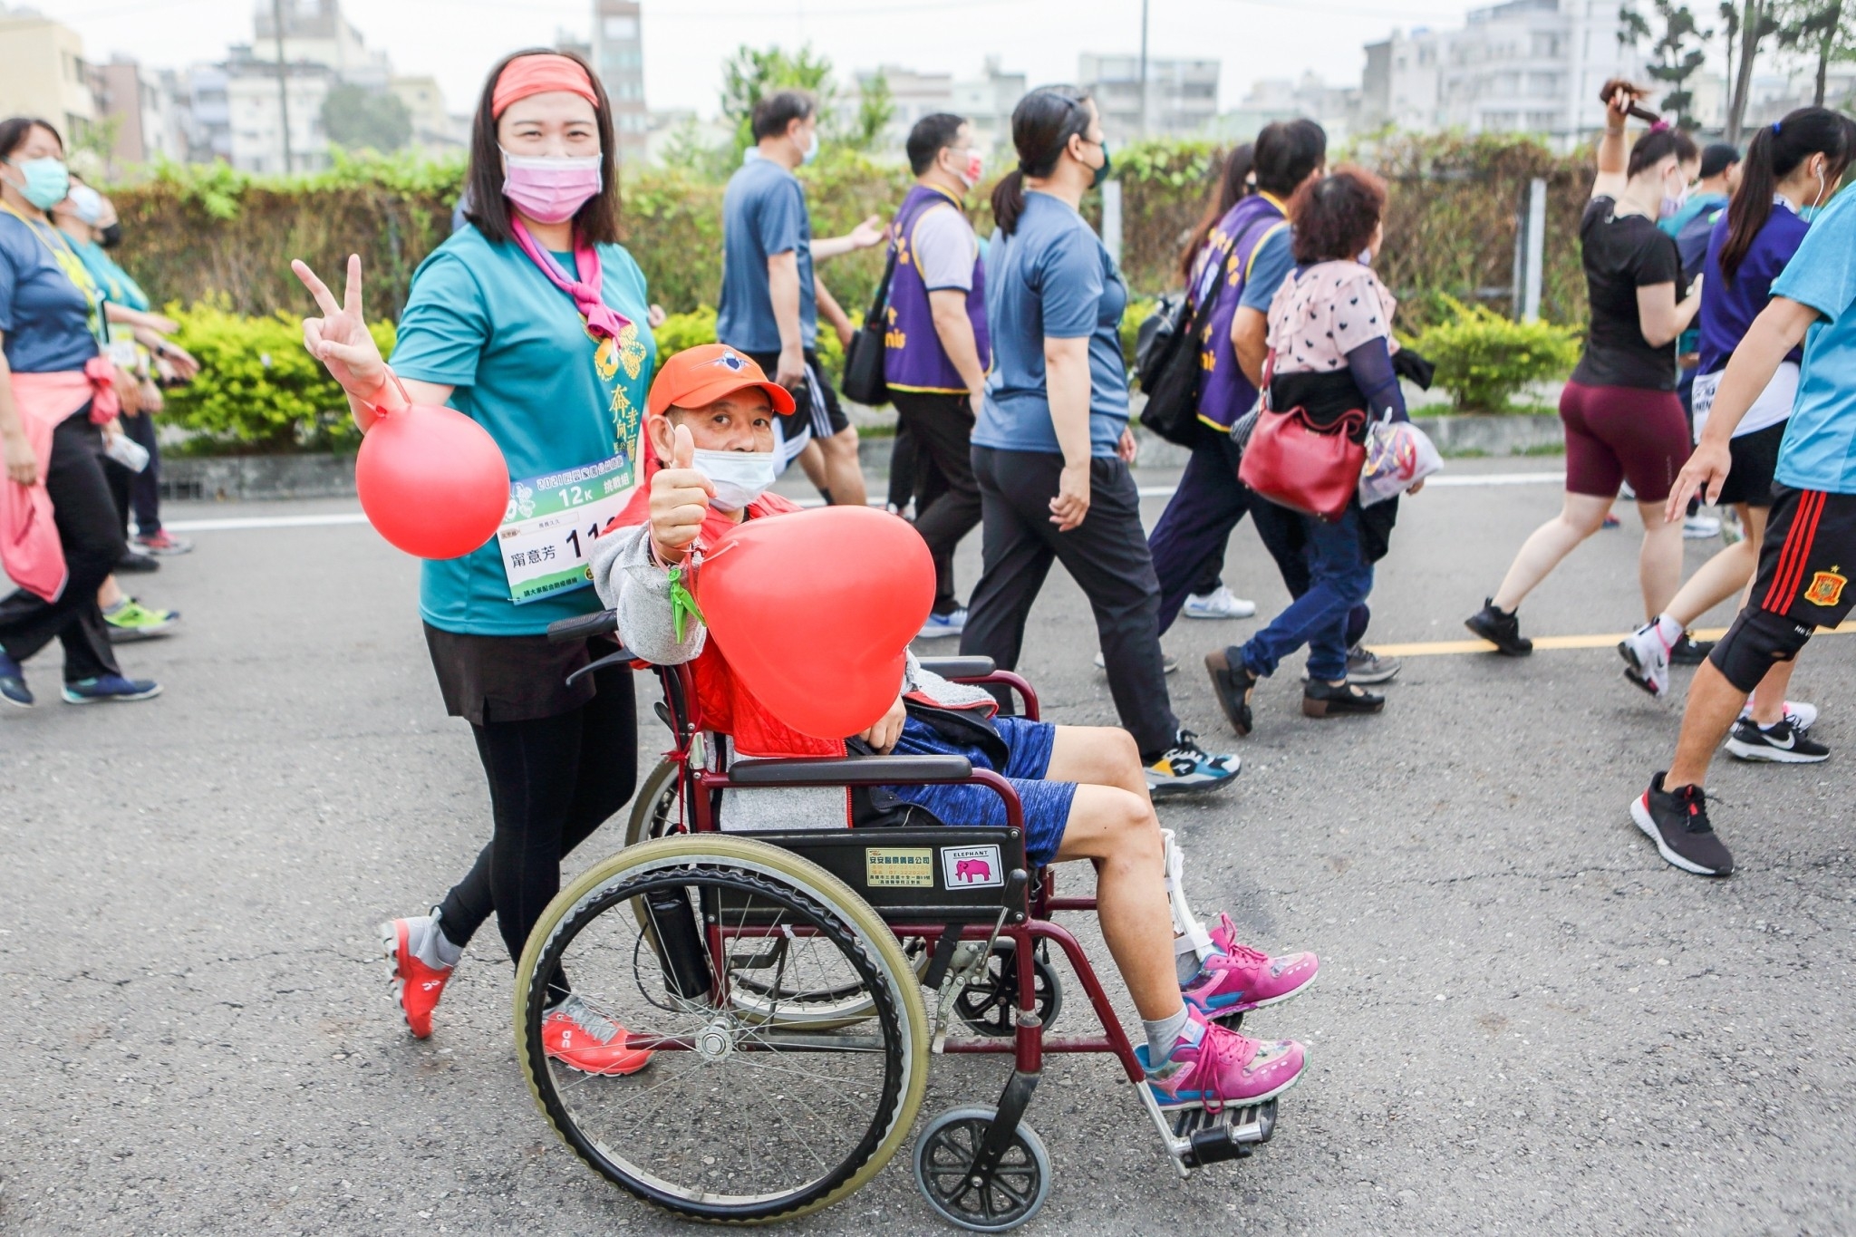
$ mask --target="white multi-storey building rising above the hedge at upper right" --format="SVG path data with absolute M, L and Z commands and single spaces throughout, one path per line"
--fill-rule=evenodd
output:
M 1463 30 L 1414 30 L 1366 46 L 1360 124 L 1542 134 L 1561 145 L 1604 128 L 1598 87 L 1643 80 L 1618 43 L 1618 0 L 1509 0 L 1470 9 Z

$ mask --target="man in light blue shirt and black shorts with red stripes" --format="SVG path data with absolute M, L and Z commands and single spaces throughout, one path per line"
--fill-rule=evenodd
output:
M 1631 803 L 1631 818 L 1663 859 L 1698 875 L 1734 870 L 1708 820 L 1709 759 L 1765 671 L 1793 660 L 1819 627 L 1836 627 L 1856 605 L 1849 588 L 1856 575 L 1856 193 L 1837 195 L 1811 224 L 1772 284 L 1772 302 L 1734 351 L 1702 441 L 1669 491 L 1669 519 L 1680 517 L 1696 486 L 1709 503 L 1721 493 L 1734 428 L 1800 341 L 1798 399 L 1778 453 L 1759 573 L 1746 608 L 1695 673 L 1676 759 Z M 1780 718 L 1776 727 L 1789 721 Z

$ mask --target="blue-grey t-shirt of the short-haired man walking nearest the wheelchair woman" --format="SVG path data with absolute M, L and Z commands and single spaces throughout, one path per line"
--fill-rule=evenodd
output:
M 748 152 L 755 154 L 755 152 Z M 722 195 L 722 304 L 715 338 L 742 352 L 778 352 L 780 323 L 767 286 L 767 260 L 798 254 L 800 343 L 818 339 L 813 297 L 811 215 L 800 178 L 772 159 L 750 158 Z

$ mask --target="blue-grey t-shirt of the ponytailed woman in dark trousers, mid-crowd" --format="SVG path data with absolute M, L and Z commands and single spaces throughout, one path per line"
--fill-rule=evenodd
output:
M 1112 456 L 1128 428 L 1121 312 L 1128 286 L 1082 215 L 1049 193 L 1026 193 L 1017 232 L 986 249 L 986 328 L 993 373 L 973 441 L 1062 454 L 1045 391 L 1043 341 L 1089 341 L 1089 454 Z

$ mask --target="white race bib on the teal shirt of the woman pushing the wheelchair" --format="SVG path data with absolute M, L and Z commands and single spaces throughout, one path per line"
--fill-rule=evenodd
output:
M 509 486 L 496 549 L 518 606 L 592 584 L 592 543 L 638 488 L 629 454 Z

